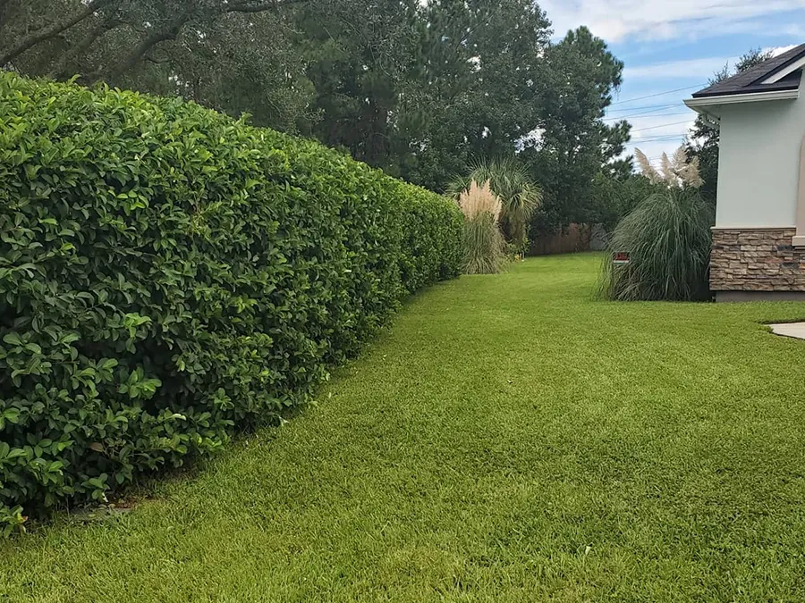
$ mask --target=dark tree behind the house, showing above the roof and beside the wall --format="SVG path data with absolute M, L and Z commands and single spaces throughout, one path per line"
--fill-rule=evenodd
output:
M 735 63 L 734 71 L 730 70 L 729 64 L 724 65 L 721 71 L 716 71 L 709 83 L 712 86 L 737 73 L 747 71 L 755 65 L 767 61 L 773 55 L 774 53 L 770 50 L 764 52 L 760 48 L 754 48 L 741 56 L 738 63 Z M 717 124 L 708 121 L 702 115 L 697 116 L 693 131 L 687 142 L 687 152 L 691 157 L 699 158 L 699 172 L 702 180 L 704 180 L 701 196 L 712 204 L 716 203 L 718 188 L 718 141 L 719 130 Z

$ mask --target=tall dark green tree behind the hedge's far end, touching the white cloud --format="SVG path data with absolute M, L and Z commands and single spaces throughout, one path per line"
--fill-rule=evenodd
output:
M 513 155 L 538 124 L 550 21 L 530 0 L 433 0 L 421 13 L 402 175 L 441 190 L 475 159 Z

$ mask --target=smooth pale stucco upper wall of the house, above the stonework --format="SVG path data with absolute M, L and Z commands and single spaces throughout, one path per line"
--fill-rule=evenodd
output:
M 805 78 L 797 100 L 723 105 L 716 228 L 796 223 Z

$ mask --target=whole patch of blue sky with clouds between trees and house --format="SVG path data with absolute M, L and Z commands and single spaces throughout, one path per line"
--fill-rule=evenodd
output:
M 607 119 L 632 124 L 628 151 L 657 162 L 682 144 L 695 113 L 684 98 L 751 48 L 805 43 L 805 0 L 541 0 L 555 36 L 587 25 L 625 63 Z M 673 92 L 672 92 L 673 90 Z M 648 96 L 648 98 L 644 98 Z

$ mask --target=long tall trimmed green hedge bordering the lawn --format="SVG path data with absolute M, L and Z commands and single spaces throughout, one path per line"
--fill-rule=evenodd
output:
M 0 74 L 0 531 L 304 401 L 461 237 L 317 143 Z

